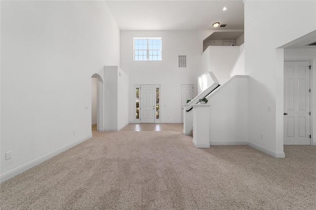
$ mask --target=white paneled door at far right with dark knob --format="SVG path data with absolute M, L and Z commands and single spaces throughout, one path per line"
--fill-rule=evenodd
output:
M 309 65 L 284 62 L 284 144 L 311 144 Z

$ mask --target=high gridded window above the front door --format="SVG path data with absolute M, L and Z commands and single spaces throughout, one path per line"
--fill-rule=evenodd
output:
M 134 61 L 161 61 L 161 38 L 134 38 Z

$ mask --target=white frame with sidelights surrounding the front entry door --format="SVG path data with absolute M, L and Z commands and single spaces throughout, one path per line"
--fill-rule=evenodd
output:
M 155 85 L 155 90 L 159 88 L 159 119 L 156 118 L 155 114 L 155 123 L 160 123 L 161 119 L 161 85 L 160 84 L 134 84 L 134 90 L 133 90 L 133 115 L 134 115 L 134 123 L 141 123 L 141 112 L 139 112 L 139 119 L 136 119 L 136 88 L 139 88 L 139 96 L 141 95 L 141 85 Z M 156 101 L 156 100 L 155 100 Z M 139 107 L 141 107 L 141 99 L 139 99 Z M 155 105 L 155 113 L 157 112 L 157 106 Z

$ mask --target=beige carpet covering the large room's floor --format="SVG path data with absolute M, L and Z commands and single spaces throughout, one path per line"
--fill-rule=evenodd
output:
M 315 210 L 316 146 L 276 159 L 179 132 L 94 137 L 0 187 L 1 210 Z

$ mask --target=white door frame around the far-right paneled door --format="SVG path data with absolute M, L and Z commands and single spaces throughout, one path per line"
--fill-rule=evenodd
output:
M 309 61 L 310 62 L 310 105 L 314 105 L 314 101 L 313 101 L 313 59 L 284 59 L 284 62 L 300 62 L 300 61 Z M 283 63 L 284 63 L 283 62 Z M 283 68 L 283 80 L 284 80 L 284 68 Z M 283 85 L 284 86 L 284 85 Z M 283 91 L 284 92 L 284 91 Z M 284 94 L 283 94 L 283 101 L 284 101 Z M 284 107 L 284 105 L 283 105 Z M 311 117 L 310 117 L 310 135 L 312 135 L 312 138 L 310 138 L 310 145 L 313 145 L 313 138 L 314 138 L 314 134 L 313 134 L 313 116 L 314 116 L 314 112 L 313 112 L 313 106 L 310 107 L 310 111 L 311 111 Z M 284 132 L 283 128 L 283 132 Z M 284 137 L 283 137 L 283 144 L 284 144 Z

